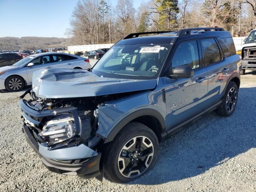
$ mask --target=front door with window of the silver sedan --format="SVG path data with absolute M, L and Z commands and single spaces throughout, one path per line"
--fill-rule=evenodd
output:
M 36 70 L 39 69 L 49 69 L 52 68 L 52 62 L 50 60 L 50 55 L 44 55 L 38 58 L 35 58 L 30 63 L 32 66 L 26 66 L 27 75 L 28 75 L 28 83 L 32 83 L 32 76 Z

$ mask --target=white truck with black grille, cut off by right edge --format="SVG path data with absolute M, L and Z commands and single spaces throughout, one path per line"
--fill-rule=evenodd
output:
M 256 70 L 256 30 L 252 30 L 241 46 L 238 53 L 242 58 L 241 75 L 245 74 L 245 70 Z

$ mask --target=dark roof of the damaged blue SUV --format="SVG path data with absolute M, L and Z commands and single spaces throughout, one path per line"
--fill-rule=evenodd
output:
M 157 35 L 150 36 L 140 36 L 134 38 L 124 38 L 120 40 L 115 45 L 135 45 L 135 44 L 171 44 L 177 38 L 181 40 L 190 40 L 196 38 L 206 38 L 206 37 L 220 37 L 220 38 L 228 38 L 232 37 L 229 31 L 202 31 L 192 30 L 191 34 L 188 35 L 180 35 L 178 36 L 178 32 L 166 32 Z

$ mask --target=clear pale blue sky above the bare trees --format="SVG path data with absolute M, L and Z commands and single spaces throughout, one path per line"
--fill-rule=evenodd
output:
M 116 6 L 118 0 L 109 0 Z M 138 8 L 143 0 L 134 0 Z M 0 0 L 0 37 L 66 38 L 78 0 Z

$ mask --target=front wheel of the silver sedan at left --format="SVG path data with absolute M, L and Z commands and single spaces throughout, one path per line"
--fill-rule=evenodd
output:
M 20 91 L 24 86 L 25 82 L 20 76 L 10 76 L 6 78 L 5 88 L 10 92 Z

